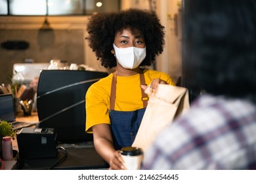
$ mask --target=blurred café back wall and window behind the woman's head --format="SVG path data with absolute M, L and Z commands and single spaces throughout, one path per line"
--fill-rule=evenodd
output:
M 112 72 L 96 60 L 85 41 L 85 28 L 95 12 L 126 8 L 158 14 L 165 26 L 165 48 L 152 67 L 178 82 L 182 76 L 182 0 L 0 0 L 0 84 L 10 84 L 24 64 L 30 65 L 25 75 L 32 80 L 53 59 L 60 61 L 62 69 L 73 63 Z

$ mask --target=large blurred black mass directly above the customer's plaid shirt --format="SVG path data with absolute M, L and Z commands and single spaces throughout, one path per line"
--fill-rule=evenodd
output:
M 183 38 L 188 87 L 255 101 L 255 0 L 186 1 Z

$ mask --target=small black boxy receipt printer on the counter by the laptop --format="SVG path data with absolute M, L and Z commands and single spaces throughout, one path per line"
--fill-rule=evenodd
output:
M 53 128 L 24 127 L 17 135 L 20 159 L 54 158 L 57 156 Z

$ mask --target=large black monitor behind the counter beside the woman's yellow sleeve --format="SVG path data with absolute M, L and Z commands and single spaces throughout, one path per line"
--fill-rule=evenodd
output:
M 85 93 L 108 73 L 98 71 L 43 70 L 37 86 L 39 127 L 54 128 L 62 143 L 93 141 L 85 133 Z

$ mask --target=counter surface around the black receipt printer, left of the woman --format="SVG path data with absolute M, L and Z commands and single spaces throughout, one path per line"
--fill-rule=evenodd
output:
M 16 116 L 16 120 L 38 122 L 39 118 L 37 112 L 33 112 L 31 116 L 24 116 L 23 113 L 20 113 Z M 35 127 L 35 125 L 30 127 Z M 19 133 L 19 130 L 17 133 Z M 26 159 L 22 167 L 14 158 L 13 161 L 5 161 L 5 169 L 51 169 L 56 162 L 62 161 L 65 156 L 66 159 L 53 169 L 108 169 L 106 162 L 96 152 L 93 142 L 58 144 L 58 146 L 61 146 L 60 149 L 64 149 L 64 151 L 58 150 L 56 158 Z M 12 140 L 12 149 L 18 151 L 16 137 Z

